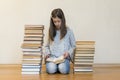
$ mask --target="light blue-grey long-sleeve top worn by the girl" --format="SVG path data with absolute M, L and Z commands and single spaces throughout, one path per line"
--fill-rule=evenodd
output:
M 48 43 L 45 47 L 45 54 L 51 54 L 55 57 L 63 55 L 65 52 L 68 52 L 70 58 L 73 60 L 74 49 L 76 47 L 75 37 L 73 31 L 70 28 L 67 28 L 67 34 L 63 39 L 60 40 L 60 31 L 56 31 L 56 36 L 52 43 Z

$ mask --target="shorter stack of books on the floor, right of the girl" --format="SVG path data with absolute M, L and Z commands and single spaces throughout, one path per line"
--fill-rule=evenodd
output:
M 76 41 L 74 72 L 93 71 L 95 41 Z

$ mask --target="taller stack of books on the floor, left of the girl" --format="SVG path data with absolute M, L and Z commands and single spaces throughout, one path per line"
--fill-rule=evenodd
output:
M 43 25 L 25 25 L 22 74 L 40 74 L 42 68 Z

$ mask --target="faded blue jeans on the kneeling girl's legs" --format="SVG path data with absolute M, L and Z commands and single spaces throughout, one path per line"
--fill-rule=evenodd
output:
M 70 71 L 70 61 L 66 59 L 63 63 L 55 64 L 53 62 L 46 63 L 46 71 L 49 74 L 60 72 L 62 74 L 68 74 Z

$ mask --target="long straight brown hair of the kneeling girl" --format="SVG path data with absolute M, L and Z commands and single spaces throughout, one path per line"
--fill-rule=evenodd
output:
M 63 39 L 67 33 L 66 20 L 65 20 L 65 16 L 64 16 L 62 9 L 60 8 L 54 9 L 51 13 L 51 18 L 50 18 L 50 28 L 49 28 L 49 40 L 50 41 L 54 41 L 54 37 L 56 36 L 56 28 L 52 20 L 52 18 L 56 18 L 56 17 L 61 19 L 60 39 Z

